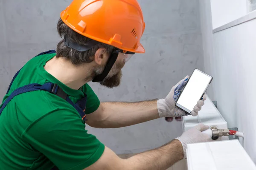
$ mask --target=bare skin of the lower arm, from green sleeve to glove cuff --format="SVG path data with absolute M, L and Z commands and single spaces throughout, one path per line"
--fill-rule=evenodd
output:
M 119 158 L 105 146 L 99 160 L 84 170 L 166 170 L 181 159 L 183 159 L 183 147 L 177 139 L 128 159 Z

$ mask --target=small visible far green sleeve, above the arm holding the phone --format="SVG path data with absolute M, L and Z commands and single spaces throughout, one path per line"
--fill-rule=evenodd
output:
M 99 108 L 99 98 L 87 83 L 83 86 L 83 92 L 87 95 L 85 114 L 90 114 Z

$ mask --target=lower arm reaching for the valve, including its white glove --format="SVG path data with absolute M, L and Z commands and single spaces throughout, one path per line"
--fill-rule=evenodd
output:
M 199 124 L 162 147 L 139 153 L 128 159 L 119 158 L 105 146 L 99 160 L 86 170 L 166 170 L 177 161 L 186 158 L 187 144 L 212 141 L 209 135 L 202 133 L 207 129 L 209 126 Z

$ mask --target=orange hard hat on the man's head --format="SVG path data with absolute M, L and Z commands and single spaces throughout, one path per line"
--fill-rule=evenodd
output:
M 77 33 L 123 51 L 145 53 L 145 29 L 137 0 L 73 0 L 61 20 Z

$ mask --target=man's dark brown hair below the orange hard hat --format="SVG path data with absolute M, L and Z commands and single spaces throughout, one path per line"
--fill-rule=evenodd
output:
M 76 31 L 73 31 L 61 20 L 61 18 L 58 20 L 57 31 L 61 38 L 67 36 L 70 41 L 76 42 L 79 45 L 84 45 L 85 42 L 91 40 L 90 38 L 84 37 Z M 56 57 L 64 57 L 69 59 L 74 65 L 80 65 L 82 63 L 92 62 L 93 56 L 99 48 L 105 48 L 108 54 L 111 54 L 114 50 L 113 46 L 100 42 L 90 50 L 80 52 L 67 47 L 64 40 L 61 40 L 57 45 Z

